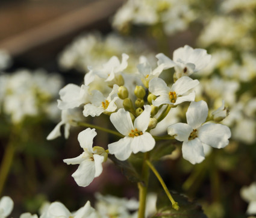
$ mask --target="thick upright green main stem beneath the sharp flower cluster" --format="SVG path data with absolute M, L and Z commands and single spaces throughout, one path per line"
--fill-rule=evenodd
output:
M 139 188 L 139 212 L 138 218 L 145 218 L 145 209 L 146 209 L 146 193 L 148 189 L 148 176 L 149 176 L 149 168 L 146 164 L 146 161 L 149 159 L 149 152 L 144 154 L 144 160 L 142 165 L 142 179 L 143 182 L 138 182 Z

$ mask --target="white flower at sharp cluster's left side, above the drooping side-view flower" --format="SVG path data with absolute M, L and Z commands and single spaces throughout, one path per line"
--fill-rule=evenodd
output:
M 67 110 L 89 103 L 88 89 L 89 86 L 82 85 L 79 87 L 75 84 L 67 84 L 60 90 L 61 100 L 58 100 L 58 108 Z

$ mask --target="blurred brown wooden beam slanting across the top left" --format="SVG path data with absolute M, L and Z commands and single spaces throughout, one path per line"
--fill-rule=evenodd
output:
M 11 55 L 20 55 L 30 49 L 42 46 L 73 31 L 80 30 L 99 20 L 106 19 L 122 5 L 123 0 L 92 1 L 78 9 L 65 13 L 55 19 L 15 34 L 0 41 L 0 49 L 6 49 Z

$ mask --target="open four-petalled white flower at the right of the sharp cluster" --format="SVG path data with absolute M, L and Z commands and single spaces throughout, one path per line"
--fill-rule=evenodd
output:
M 184 159 L 190 163 L 201 163 L 204 160 L 204 146 L 224 148 L 228 145 L 231 131 L 228 126 L 205 122 L 208 107 L 205 101 L 191 102 L 187 110 L 187 123 L 175 123 L 167 129 L 169 135 L 183 142 Z

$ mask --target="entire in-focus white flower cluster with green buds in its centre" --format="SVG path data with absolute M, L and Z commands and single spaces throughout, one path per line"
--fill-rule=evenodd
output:
M 58 108 L 62 110 L 63 116 L 48 139 L 55 139 L 60 135 L 61 125 L 66 126 L 66 137 L 70 125 L 83 125 L 79 120 L 71 118 L 72 111 L 79 111 L 79 108 L 83 110 L 85 117 L 107 114 L 118 131 L 112 132 L 121 138 L 108 144 L 108 149 L 105 150 L 99 146 L 93 147 L 95 129 L 87 128 L 80 132 L 78 141 L 83 153 L 76 158 L 64 160 L 67 164 L 80 164 L 72 175 L 78 185 L 87 186 L 101 174 L 102 163 L 107 160 L 108 154 L 124 161 L 131 154 L 151 151 L 157 146 L 152 132 L 158 129 L 158 123 L 167 118 L 168 114 L 172 116 L 172 111 L 183 102 L 191 102 L 186 113 L 188 124 L 167 121 L 164 129 L 162 124 L 159 128 L 161 131 L 168 131 L 170 139 L 183 142 L 182 151 L 186 160 L 192 164 L 201 163 L 208 146 L 224 148 L 228 145 L 231 137 L 229 128 L 221 124 L 205 123 L 208 117 L 207 103 L 194 102 L 196 95 L 193 89 L 198 86 L 199 81 L 189 77 L 204 69 L 210 62 L 211 55 L 204 49 L 193 49 L 186 45 L 173 52 L 173 60 L 164 54 L 156 57 L 158 66 L 155 69 L 152 69 L 146 58 L 142 58 L 133 73 L 125 71 L 128 67 L 128 55 L 122 54 L 121 61 L 115 56 L 111 57 L 102 66 L 92 67 L 81 86 L 67 84 L 60 90 Z M 175 69 L 174 82 L 172 86 L 167 86 L 159 76 L 164 69 L 172 67 Z M 99 86 L 101 89 L 95 89 Z M 67 111 L 69 119 L 64 115 Z M 212 120 L 213 117 L 209 116 L 209 119 Z M 92 125 L 84 123 L 84 126 Z

